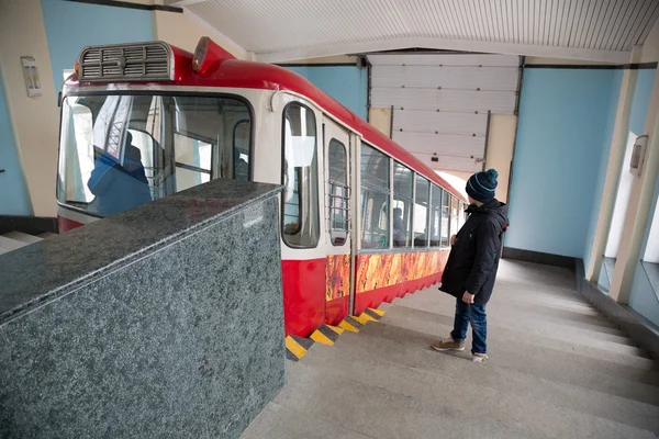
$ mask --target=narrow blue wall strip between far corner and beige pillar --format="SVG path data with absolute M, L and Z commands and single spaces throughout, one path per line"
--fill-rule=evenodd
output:
M 597 229 L 597 218 L 600 216 L 600 206 L 602 201 L 602 192 L 604 191 L 604 181 L 606 179 L 606 168 L 608 167 L 608 155 L 611 154 L 611 140 L 613 139 L 613 128 L 615 126 L 615 115 L 617 113 L 617 102 L 621 94 L 621 86 L 623 82 L 623 70 L 615 70 L 613 77 L 613 86 L 608 101 L 608 116 L 606 117 L 606 131 L 602 143 L 602 153 L 600 165 L 597 168 L 597 181 L 595 182 L 595 194 L 593 195 L 593 209 L 588 227 L 588 236 L 585 239 L 585 248 L 583 250 L 583 264 L 588 268 L 591 254 L 593 250 L 593 240 Z

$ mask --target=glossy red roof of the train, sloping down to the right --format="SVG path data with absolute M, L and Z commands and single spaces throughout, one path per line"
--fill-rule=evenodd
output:
M 166 44 L 161 42 L 158 43 Z M 167 46 L 171 49 L 174 58 L 172 81 L 156 81 L 156 83 L 161 86 L 178 85 L 185 87 L 245 88 L 273 91 L 287 90 L 298 93 L 313 101 L 330 113 L 330 115 L 338 119 L 351 130 L 361 134 L 366 142 L 375 145 L 389 156 L 423 175 L 428 180 L 447 189 L 458 199 L 465 202 L 467 201 L 461 190 L 456 189 L 450 182 L 438 176 L 410 151 L 398 145 L 375 126 L 357 116 L 334 98 L 294 71 L 272 64 L 236 59 L 223 49 L 219 49 L 221 56 L 219 59 L 214 60 L 211 66 L 206 66 L 203 71 L 196 71 L 192 68 L 193 55 L 191 53 L 171 45 Z M 121 45 L 104 47 L 121 47 Z M 90 49 L 90 47 L 86 47 L 82 55 L 87 49 Z M 215 55 L 217 55 L 217 53 Z M 78 70 L 78 67 L 76 70 Z M 108 82 L 110 81 L 105 81 L 105 83 Z M 130 81 L 115 80 L 112 82 L 120 83 Z M 98 86 L 98 83 L 78 82 L 78 74 L 76 72 L 69 77 L 66 81 L 66 86 L 83 88 L 88 86 Z

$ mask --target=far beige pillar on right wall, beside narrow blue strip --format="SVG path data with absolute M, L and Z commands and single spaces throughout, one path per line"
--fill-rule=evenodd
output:
M 640 50 L 636 47 L 632 54 L 630 63 L 638 63 Z M 593 239 L 593 249 L 589 266 L 585 268 L 585 279 L 596 282 L 602 267 L 602 256 L 608 239 L 611 229 L 611 219 L 613 217 L 613 207 L 617 193 L 621 167 L 624 166 L 625 147 L 629 134 L 629 114 L 632 112 L 632 102 L 634 100 L 634 89 L 636 88 L 636 78 L 638 70 L 625 70 L 621 85 L 621 94 L 618 98 L 617 112 L 611 140 L 611 150 L 608 153 L 608 166 L 606 168 L 606 179 L 604 180 L 604 190 L 602 191 L 600 215 L 597 217 L 597 228 Z

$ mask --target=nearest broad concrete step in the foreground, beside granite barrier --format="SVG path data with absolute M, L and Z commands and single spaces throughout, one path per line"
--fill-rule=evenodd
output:
M 643 428 L 472 385 L 468 368 L 479 365 L 468 361 L 455 380 L 377 359 L 355 368 L 342 364 L 345 374 L 322 362 L 297 363 L 276 403 L 376 438 L 655 437 Z M 305 392 L 312 385 L 315 391 Z

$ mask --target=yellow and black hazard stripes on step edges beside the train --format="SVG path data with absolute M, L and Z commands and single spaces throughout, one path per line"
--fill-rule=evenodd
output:
M 286 338 L 286 358 L 293 361 L 299 361 L 304 357 L 306 351 L 314 342 L 320 342 L 327 346 L 334 346 L 338 337 L 344 333 L 359 333 L 367 323 L 378 322 L 384 316 L 381 309 L 367 308 L 358 316 L 346 316 L 338 326 L 323 325 L 309 338 L 298 336 L 288 336 Z

